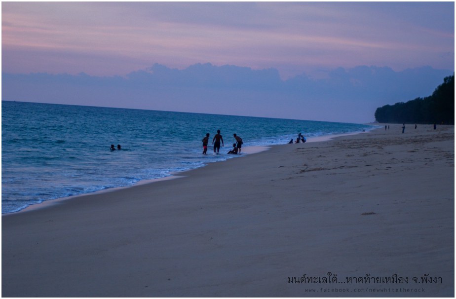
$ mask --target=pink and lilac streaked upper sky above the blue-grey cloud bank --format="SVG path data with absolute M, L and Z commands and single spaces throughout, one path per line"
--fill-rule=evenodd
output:
M 122 75 L 155 62 L 274 67 L 284 77 L 356 65 L 449 69 L 454 3 L 3 2 L 2 49 L 8 72 Z

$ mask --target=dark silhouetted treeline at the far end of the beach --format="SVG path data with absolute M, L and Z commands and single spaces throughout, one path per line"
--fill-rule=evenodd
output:
M 377 108 L 375 119 L 383 123 L 455 124 L 455 74 L 444 78 L 425 98 Z

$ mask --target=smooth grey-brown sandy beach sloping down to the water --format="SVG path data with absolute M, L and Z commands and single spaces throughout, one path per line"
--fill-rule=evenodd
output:
M 401 127 L 3 215 L 1 295 L 454 297 L 454 126 Z

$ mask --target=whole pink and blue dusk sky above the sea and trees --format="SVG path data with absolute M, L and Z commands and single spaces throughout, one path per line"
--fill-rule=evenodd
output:
M 453 75 L 454 15 L 454 2 L 3 1 L 2 99 L 373 121 Z

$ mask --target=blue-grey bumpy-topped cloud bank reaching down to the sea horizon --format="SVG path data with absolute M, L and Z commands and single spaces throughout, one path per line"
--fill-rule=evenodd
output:
M 376 108 L 425 97 L 453 71 L 338 68 L 324 79 L 282 80 L 275 69 L 155 64 L 125 76 L 2 73 L 2 99 L 341 122 L 374 121 Z

